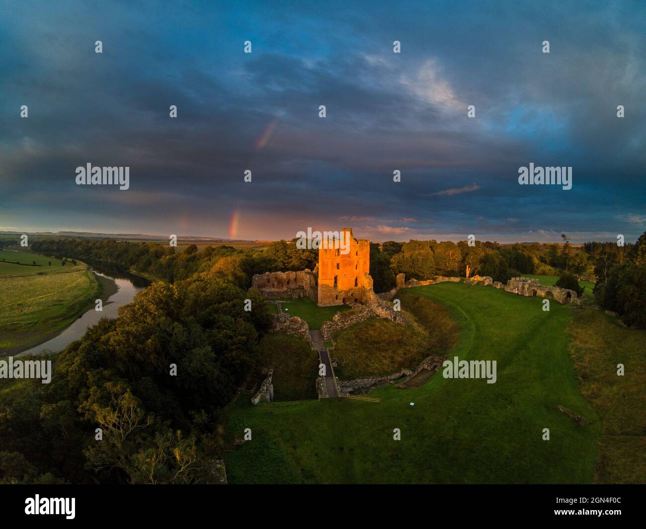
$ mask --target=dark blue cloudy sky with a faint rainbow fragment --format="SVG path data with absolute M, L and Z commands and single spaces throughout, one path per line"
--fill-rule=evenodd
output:
M 0 3 L 1 230 L 646 230 L 642 2 L 132 4 Z M 76 185 L 87 163 L 130 189 Z M 529 163 L 572 189 L 519 185 Z

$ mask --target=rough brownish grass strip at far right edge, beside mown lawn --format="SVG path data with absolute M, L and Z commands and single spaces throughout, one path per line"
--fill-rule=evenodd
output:
M 603 420 L 595 481 L 646 482 L 646 331 L 625 329 L 594 310 L 577 313 L 568 331 L 581 393 Z

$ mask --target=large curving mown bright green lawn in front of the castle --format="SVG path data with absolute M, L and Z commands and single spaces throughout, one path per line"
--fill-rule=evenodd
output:
M 559 304 L 543 312 L 539 298 L 462 283 L 410 293 L 448 307 L 460 326 L 452 355 L 496 360 L 497 382 L 440 371 L 419 388 L 375 389 L 379 403 L 238 399 L 227 440 L 245 428 L 253 440 L 225 453 L 229 482 L 592 482 L 602 428 L 568 352 L 573 312 Z M 577 426 L 559 404 L 592 424 Z

